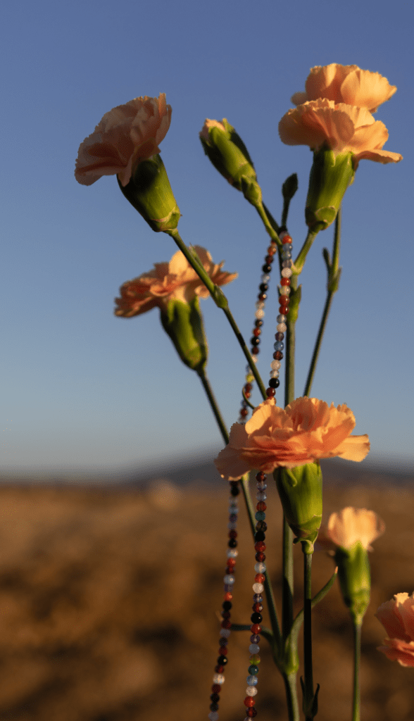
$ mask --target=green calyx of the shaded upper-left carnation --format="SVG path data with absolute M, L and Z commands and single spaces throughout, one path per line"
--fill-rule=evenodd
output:
M 175 230 L 180 220 L 180 208 L 172 193 L 164 163 L 159 154 L 133 167 L 131 180 L 123 187 L 125 198 L 141 214 L 156 233 Z

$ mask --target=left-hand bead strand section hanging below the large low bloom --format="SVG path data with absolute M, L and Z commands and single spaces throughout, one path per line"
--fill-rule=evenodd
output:
M 230 482 L 230 497 L 229 497 L 229 542 L 227 544 L 227 566 L 226 575 L 224 575 L 224 601 L 222 604 L 223 610 L 221 616 L 223 618 L 221 622 L 221 631 L 219 639 L 219 658 L 217 658 L 217 665 L 214 668 L 213 686 L 211 686 L 210 696 L 210 713 L 208 718 L 210 721 L 217 721 L 219 718 L 219 700 L 221 686 L 224 684 L 224 666 L 227 663 L 227 643 L 229 641 L 230 627 L 232 623 L 230 621 L 230 609 L 232 608 L 233 598 L 233 585 L 234 585 L 234 567 L 239 552 L 237 551 L 237 515 L 239 513 L 239 507 L 237 502 L 237 496 L 239 495 L 239 482 Z

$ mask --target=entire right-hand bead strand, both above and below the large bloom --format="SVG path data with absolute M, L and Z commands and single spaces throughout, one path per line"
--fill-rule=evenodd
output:
M 279 369 L 281 367 L 281 360 L 283 358 L 282 350 L 285 347 L 283 343 L 283 338 L 285 337 L 286 332 L 286 319 L 287 315 L 289 313 L 289 295 L 291 292 L 290 285 L 291 285 L 291 266 L 292 266 L 292 239 L 291 236 L 287 233 L 287 231 L 282 231 L 279 234 L 279 237 L 281 239 L 281 242 L 283 243 L 283 249 L 281 250 L 281 295 L 279 296 L 279 315 L 277 317 L 278 325 L 276 327 L 276 335 L 275 335 L 275 345 L 273 348 L 275 349 L 275 352 L 273 353 L 273 361 L 270 363 L 270 379 L 269 379 L 269 385 L 266 389 L 266 395 L 268 398 L 274 398 L 276 401 L 276 388 L 280 385 L 279 381 Z M 262 630 L 262 627 L 260 626 L 260 622 L 262 621 L 262 614 L 261 611 L 263 611 L 263 590 L 264 590 L 264 581 L 265 581 L 265 570 L 266 565 L 264 563 L 265 561 L 265 531 L 267 531 L 267 523 L 265 522 L 265 510 L 266 510 L 266 494 L 265 490 L 267 488 L 266 484 L 266 476 L 265 474 L 260 471 L 257 473 L 256 476 L 257 481 L 257 505 L 256 505 L 256 513 L 255 513 L 255 519 L 257 521 L 256 524 L 256 533 L 255 533 L 255 583 L 253 583 L 253 613 L 252 616 L 250 616 L 250 620 L 252 622 L 252 626 L 250 627 L 250 631 L 252 632 L 252 635 L 250 636 L 250 666 L 249 666 L 249 676 L 247 676 L 247 689 L 246 689 L 246 697 L 245 697 L 245 707 L 247 707 L 247 716 L 245 717 L 245 721 L 250 721 L 252 718 L 257 716 L 257 709 L 255 708 L 255 696 L 257 694 L 257 673 L 259 673 L 259 666 L 260 663 L 260 632 Z

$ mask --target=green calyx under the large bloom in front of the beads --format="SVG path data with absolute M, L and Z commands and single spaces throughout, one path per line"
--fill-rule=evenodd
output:
M 322 470 L 320 464 L 307 463 L 273 472 L 283 512 L 296 536 L 294 543 L 307 541 L 306 553 L 313 553 L 322 521 Z

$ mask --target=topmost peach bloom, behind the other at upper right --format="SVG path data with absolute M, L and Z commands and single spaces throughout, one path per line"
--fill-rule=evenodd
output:
M 397 92 L 387 78 L 379 73 L 361 70 L 357 65 L 338 65 L 331 63 L 311 68 L 305 83 L 305 92 L 296 92 L 291 97 L 294 105 L 302 105 L 309 100 L 326 98 L 346 105 L 366 107 L 375 112 L 377 107 L 389 100 Z

